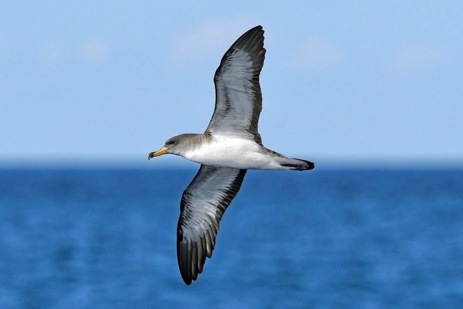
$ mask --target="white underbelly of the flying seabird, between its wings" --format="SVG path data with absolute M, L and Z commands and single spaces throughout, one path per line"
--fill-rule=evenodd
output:
M 248 170 L 283 170 L 272 155 L 262 153 L 253 140 L 221 137 L 190 151 L 185 158 L 211 166 Z

